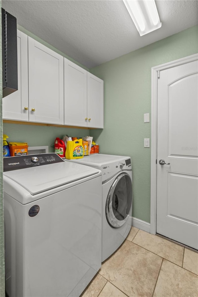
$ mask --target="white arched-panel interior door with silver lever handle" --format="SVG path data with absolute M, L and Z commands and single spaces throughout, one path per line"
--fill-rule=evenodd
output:
M 198 249 L 198 61 L 158 79 L 157 233 Z

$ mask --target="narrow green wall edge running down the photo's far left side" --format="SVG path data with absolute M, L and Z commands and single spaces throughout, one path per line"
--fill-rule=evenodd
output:
M 1 0 L 0 0 L 1 7 Z M 1 24 L 1 12 L 0 12 Z M 2 28 L 0 26 L 0 52 L 2 52 Z M 3 145 L 2 145 L 2 55 L 0 54 L 0 297 L 5 296 L 5 268 L 4 268 L 4 223 L 3 223 Z

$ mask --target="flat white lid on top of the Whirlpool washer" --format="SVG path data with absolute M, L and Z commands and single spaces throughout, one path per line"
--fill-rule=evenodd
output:
M 31 195 L 35 195 L 55 187 L 78 181 L 90 176 L 93 178 L 100 171 L 72 162 L 61 162 L 32 168 L 7 171 L 7 176 L 15 183 L 25 188 Z M 101 174 L 100 174 L 101 175 Z

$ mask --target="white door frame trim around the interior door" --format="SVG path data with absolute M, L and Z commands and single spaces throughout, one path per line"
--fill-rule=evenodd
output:
M 151 213 L 150 233 L 156 234 L 157 219 L 157 79 L 160 71 L 198 60 L 198 54 L 151 68 Z

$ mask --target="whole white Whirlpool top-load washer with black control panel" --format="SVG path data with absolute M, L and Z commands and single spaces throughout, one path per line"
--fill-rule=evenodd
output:
M 101 171 L 55 153 L 3 161 L 8 296 L 79 296 L 101 267 Z

